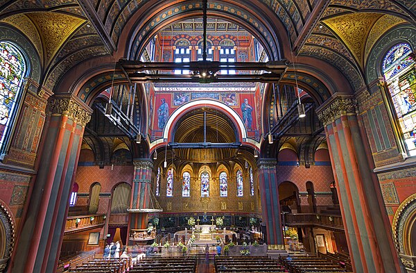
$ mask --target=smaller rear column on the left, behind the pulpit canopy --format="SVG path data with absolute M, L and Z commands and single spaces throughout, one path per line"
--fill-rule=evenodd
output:
M 135 174 L 130 197 L 130 214 L 128 219 L 128 235 L 131 229 L 146 229 L 148 212 L 140 211 L 153 208 L 150 204 L 150 187 L 153 163 L 150 159 L 133 160 Z M 152 196 L 155 198 L 154 196 Z

